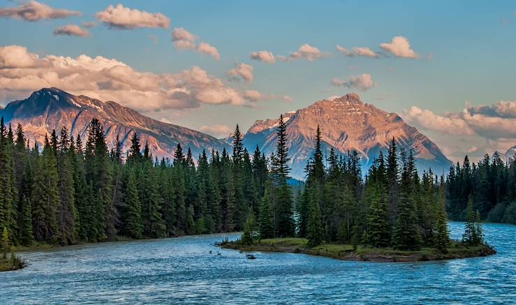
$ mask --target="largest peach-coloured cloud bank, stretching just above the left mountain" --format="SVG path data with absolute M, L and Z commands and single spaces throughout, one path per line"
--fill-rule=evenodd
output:
M 26 98 L 42 87 L 58 87 L 142 112 L 206 104 L 248 105 L 249 94 L 193 66 L 179 73 L 147 73 L 105 57 L 38 57 L 26 47 L 0 47 L 0 96 Z M 259 94 L 259 92 L 258 92 Z M 263 97 L 262 97 L 263 98 Z

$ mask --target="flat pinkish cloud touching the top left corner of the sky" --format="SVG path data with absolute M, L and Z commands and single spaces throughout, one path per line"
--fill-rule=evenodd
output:
M 15 8 L 0 8 L 0 17 L 10 17 L 25 21 L 38 21 L 43 19 L 59 19 L 71 16 L 79 16 L 80 12 L 52 8 L 45 3 L 31 0 Z

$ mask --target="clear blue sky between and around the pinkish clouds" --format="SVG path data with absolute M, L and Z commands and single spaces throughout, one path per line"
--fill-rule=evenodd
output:
M 15 8 L 24 3 L 4 0 L 0 1 L 0 8 Z M 176 75 L 196 66 L 223 82 L 224 90 L 235 89 L 242 94 L 256 90 L 262 95 L 260 101 L 245 101 L 244 105 L 235 100 L 217 105 L 196 101 L 186 102 L 188 108 L 171 106 L 166 101 L 147 108 L 154 101 L 129 101 L 128 94 L 119 95 L 117 102 L 156 119 L 219 135 L 223 131 L 221 126 L 233 128 L 238 123 L 246 130 L 256 119 L 278 117 L 281 112 L 306 107 L 322 98 L 356 91 L 363 101 L 401 114 L 452 160 L 467 152 L 475 158 L 485 151 L 505 151 L 516 144 L 516 132 L 510 131 L 516 126 L 516 110 L 511 112 L 516 108 L 516 103 L 511 102 L 516 100 L 516 4 L 513 1 L 48 0 L 43 3 L 51 8 L 78 11 L 81 15 L 36 21 L 4 15 L 0 17 L 0 47 L 26 47 L 27 52 L 38 54 L 40 59 L 49 55 L 73 59 L 81 54 L 91 58 L 100 56 L 116 59 L 139 73 L 154 75 Z M 170 26 L 108 27 L 96 13 L 117 3 L 131 10 L 161 13 L 170 19 Z M 83 22 L 97 24 L 84 29 Z M 54 29 L 66 24 L 83 27 L 89 36 L 53 34 Z M 220 59 L 196 50 L 178 50 L 171 34 L 179 27 L 195 35 L 197 45 L 209 43 L 216 47 Z M 418 59 L 397 57 L 379 47 L 381 43 L 390 43 L 395 36 L 404 36 Z M 320 50 L 322 58 L 277 60 L 274 64 L 250 58 L 251 52 L 261 50 L 276 57 L 288 57 L 304 44 Z M 346 57 L 336 50 L 337 45 L 348 50 L 369 47 L 383 54 L 379 58 Z M 228 79 L 228 71 L 237 64 L 253 67 L 252 82 Z M 374 86 L 361 90 L 352 85 L 332 85 L 333 79 L 348 80 L 350 84 L 352 77 L 362 74 L 369 74 Z M 25 82 L 20 80 L 20 84 Z M 0 81 L 0 103 L 23 98 L 27 91 L 39 89 L 37 85 L 29 82 L 15 90 Z M 102 90 L 97 94 L 92 97 L 118 97 L 114 92 Z M 284 101 L 283 96 L 291 101 Z M 464 115 L 466 101 L 469 110 Z M 496 104 L 499 101 L 508 101 L 503 109 L 508 108 L 509 112 L 496 112 L 501 109 L 501 104 Z M 488 105 L 496 114 L 487 114 L 478 105 Z M 432 126 L 429 121 L 442 124 Z M 494 135 L 492 129 L 497 124 L 502 124 L 506 132 Z M 447 131 L 454 126 L 462 126 L 464 131 L 449 135 Z

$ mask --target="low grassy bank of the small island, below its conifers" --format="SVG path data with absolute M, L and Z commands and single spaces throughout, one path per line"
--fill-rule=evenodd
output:
M 399 251 L 392 248 L 357 246 L 357 248 L 354 249 L 352 245 L 348 244 L 322 244 L 311 248 L 307 245 L 307 239 L 302 238 L 261 239 L 251 246 L 242 245 L 239 241 L 226 241 L 219 244 L 219 246 L 242 252 L 304 253 L 339 260 L 367 262 L 419 262 L 427 260 L 472 258 L 496 254 L 496 251 L 491 246 L 464 246 L 458 241 L 451 241 L 448 253 L 439 253 L 436 248 L 421 248 L 420 251 Z

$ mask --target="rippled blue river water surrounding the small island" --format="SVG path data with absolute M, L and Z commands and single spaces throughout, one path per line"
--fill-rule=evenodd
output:
M 450 223 L 452 237 L 462 228 Z M 348 262 L 294 253 L 256 253 L 247 260 L 214 246 L 237 234 L 25 252 L 29 267 L 0 273 L 0 303 L 515 304 L 516 226 L 484 228 L 498 254 L 439 262 Z

